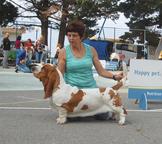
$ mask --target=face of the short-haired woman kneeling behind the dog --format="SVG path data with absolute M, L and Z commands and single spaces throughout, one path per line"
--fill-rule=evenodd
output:
M 77 44 L 81 43 L 81 38 L 77 32 L 68 32 L 67 38 L 71 45 L 77 45 Z

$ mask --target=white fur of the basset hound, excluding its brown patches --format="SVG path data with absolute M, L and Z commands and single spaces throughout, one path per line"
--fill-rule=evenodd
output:
M 33 74 L 35 76 L 38 75 L 41 68 L 42 65 L 35 66 Z M 57 108 L 59 112 L 57 123 L 65 123 L 67 121 L 67 117 L 93 116 L 108 111 L 117 114 L 119 124 L 123 125 L 125 123 L 126 111 L 122 105 L 116 106 L 114 104 L 115 99 L 112 98 L 109 93 L 110 91 L 113 91 L 116 95 L 117 91 L 110 87 L 105 88 L 104 91 L 100 91 L 99 88 L 81 89 L 84 93 L 82 100 L 77 106 L 75 106 L 72 112 L 68 112 L 66 108 L 62 107 L 62 104 L 68 102 L 71 99 L 72 94 L 77 94 L 79 89 L 66 84 L 61 72 L 58 68 L 56 68 L 56 70 L 58 72 L 60 82 L 58 87 L 53 89 L 53 94 L 49 100 L 52 108 Z M 122 79 L 122 83 L 124 83 L 124 81 L 125 79 Z M 88 108 L 83 110 L 83 106 L 87 106 Z

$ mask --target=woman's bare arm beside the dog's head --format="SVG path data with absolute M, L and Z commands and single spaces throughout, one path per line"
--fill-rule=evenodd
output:
M 58 69 L 61 71 L 62 74 L 65 72 L 65 65 L 66 65 L 66 51 L 64 48 L 59 50 L 58 53 Z

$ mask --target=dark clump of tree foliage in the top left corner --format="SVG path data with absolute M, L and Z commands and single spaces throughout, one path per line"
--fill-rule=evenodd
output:
M 6 0 L 0 1 L 0 25 L 6 26 L 9 22 L 13 22 L 18 16 L 18 9 L 7 2 Z

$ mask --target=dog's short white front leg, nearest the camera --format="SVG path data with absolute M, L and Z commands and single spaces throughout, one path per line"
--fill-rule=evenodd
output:
M 59 117 L 56 119 L 57 124 L 64 124 L 67 120 L 67 111 L 66 109 L 59 107 Z

